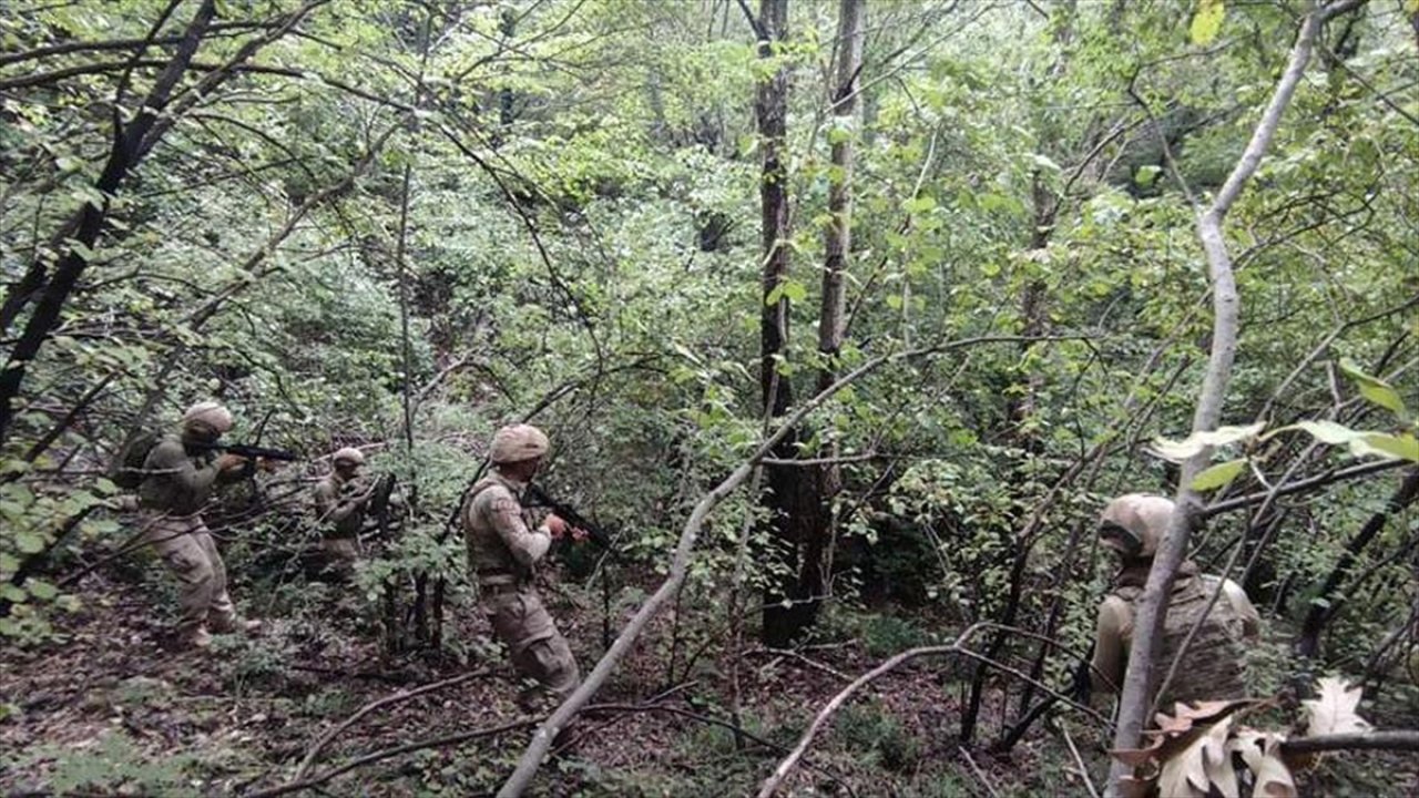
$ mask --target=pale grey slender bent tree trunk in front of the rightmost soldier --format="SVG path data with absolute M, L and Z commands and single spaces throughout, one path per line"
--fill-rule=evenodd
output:
M 1193 432 L 1206 432 L 1218 427 L 1222 419 L 1222 402 L 1232 378 L 1232 362 L 1236 356 L 1240 300 L 1236 291 L 1232 257 L 1227 253 L 1222 224 L 1226 220 L 1227 212 L 1240 196 L 1242 189 L 1270 148 L 1271 138 L 1281 122 L 1281 114 L 1290 105 L 1305 65 L 1311 60 L 1311 50 L 1314 48 L 1321 24 L 1332 13 L 1332 9 L 1338 9 L 1342 4 L 1355 6 L 1351 3 L 1337 3 L 1327 9 L 1313 9 L 1305 16 L 1300 34 L 1296 37 L 1296 44 L 1291 48 L 1290 62 L 1281 74 L 1276 92 L 1271 95 L 1270 104 L 1252 133 L 1252 141 L 1247 142 L 1246 151 L 1237 160 L 1232 175 L 1227 176 L 1226 183 L 1218 192 L 1212 206 L 1203 210 L 1198 220 L 1198 237 L 1208 257 L 1215 317 L 1212 324 L 1212 354 L 1198 398 L 1198 408 L 1192 417 Z M 1205 449 L 1188 459 L 1182 466 L 1182 477 L 1176 496 L 1178 510 L 1174 513 L 1168 535 L 1158 548 L 1152 571 L 1148 574 L 1148 584 L 1144 586 L 1142 596 L 1138 601 L 1128 670 L 1124 676 L 1122 696 L 1118 706 L 1118 723 L 1114 734 L 1115 750 L 1137 748 L 1144 721 L 1151 717 L 1149 710 L 1154 701 L 1154 652 L 1158 650 L 1162 638 L 1174 576 L 1176 576 L 1178 567 L 1188 551 L 1188 538 L 1191 537 L 1192 527 L 1195 523 L 1200 523 L 1202 517 L 1202 503 L 1198 493 L 1192 490 L 1192 480 L 1208 466 L 1210 454 L 1210 449 Z M 1130 775 L 1130 772 L 1131 768 L 1127 764 L 1118 760 L 1114 761 L 1110 771 L 1110 794 L 1117 795 L 1122 789 L 1121 780 Z

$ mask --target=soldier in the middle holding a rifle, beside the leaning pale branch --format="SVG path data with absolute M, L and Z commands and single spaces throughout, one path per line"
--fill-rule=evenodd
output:
M 546 434 L 535 426 L 499 429 L 490 453 L 492 474 L 473 487 L 461 518 L 482 612 L 508 647 L 512 667 L 536 680 L 542 690 L 566 697 L 582 676 L 532 578 L 552 538 L 568 532 L 568 525 L 553 514 L 534 528 L 521 503 L 546 450 Z M 529 706 L 535 693 L 536 689 L 526 690 L 519 700 Z

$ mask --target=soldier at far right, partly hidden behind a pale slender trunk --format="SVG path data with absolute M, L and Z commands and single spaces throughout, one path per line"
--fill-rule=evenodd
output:
M 1095 690 L 1115 692 L 1124 682 L 1134 632 L 1134 605 L 1148 582 L 1154 552 L 1168 532 L 1172 511 L 1174 504 L 1168 498 L 1134 493 L 1110 501 L 1100 517 L 1100 540 L 1118 552 L 1121 568 L 1114 576 L 1112 591 L 1098 606 L 1093 662 Z M 1156 706 L 1246 697 L 1244 646 L 1254 642 L 1261 618 L 1240 585 L 1199 575 L 1192 561 L 1182 564 L 1172 585 L 1162 647 L 1152 662 L 1152 689 L 1156 690 L 1166 676 L 1174 656 L 1219 585 L 1222 595 L 1188 645 L 1185 660 Z

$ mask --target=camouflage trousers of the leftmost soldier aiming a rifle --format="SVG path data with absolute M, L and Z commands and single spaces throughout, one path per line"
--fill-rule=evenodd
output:
M 230 632 L 237 611 L 227 595 L 227 567 L 201 515 L 149 510 L 140 515 L 140 523 L 143 542 L 153 547 L 180 585 L 179 636 L 192 639 L 201 629 Z

